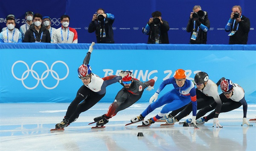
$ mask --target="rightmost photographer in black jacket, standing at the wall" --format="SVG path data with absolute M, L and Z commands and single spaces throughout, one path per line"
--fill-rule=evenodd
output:
M 230 32 L 229 44 L 247 44 L 250 20 L 242 15 L 241 6 L 233 6 L 225 31 Z

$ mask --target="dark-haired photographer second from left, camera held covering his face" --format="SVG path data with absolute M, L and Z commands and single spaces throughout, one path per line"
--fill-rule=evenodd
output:
M 156 11 L 152 13 L 153 18 L 149 21 L 142 32 L 148 35 L 148 44 L 169 44 L 169 23 L 162 20 L 161 12 Z

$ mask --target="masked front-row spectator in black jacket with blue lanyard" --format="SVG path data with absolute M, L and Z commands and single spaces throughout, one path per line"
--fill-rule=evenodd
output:
M 49 31 L 42 24 L 42 15 L 35 14 L 33 16 L 33 24 L 26 31 L 23 42 L 50 43 L 51 37 Z

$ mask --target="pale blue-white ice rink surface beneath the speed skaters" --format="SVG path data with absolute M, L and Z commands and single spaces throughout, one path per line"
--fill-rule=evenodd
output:
M 81 113 L 63 132 L 51 133 L 62 121 L 69 103 L 0 104 L 0 151 L 256 151 L 256 122 L 241 126 L 242 107 L 221 113 L 223 128 L 204 125 L 137 128 L 141 122 L 125 126 L 149 105 L 135 103 L 111 118 L 105 128 L 91 129 L 93 118 L 106 113 L 110 103 L 98 103 Z M 161 107 L 145 119 L 155 116 Z M 180 120 L 191 118 L 192 114 Z M 256 117 L 256 105 L 248 105 L 247 120 Z M 137 136 L 143 133 L 143 136 Z

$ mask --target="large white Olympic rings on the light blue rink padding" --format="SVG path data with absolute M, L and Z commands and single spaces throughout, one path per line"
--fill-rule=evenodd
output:
M 14 66 L 15 66 L 17 63 L 23 63 L 23 64 L 25 64 L 25 66 L 26 66 L 26 68 L 27 68 L 27 70 L 24 71 L 24 73 L 22 74 L 21 78 L 17 78 L 17 76 L 15 76 L 14 71 L 13 71 Z M 43 64 L 47 67 L 47 70 L 45 70 L 45 71 L 42 73 L 41 78 L 39 77 L 38 73 L 37 73 L 35 70 L 33 70 L 33 67 L 34 67 L 35 64 L 37 64 L 37 63 L 43 63 Z M 66 66 L 66 68 L 67 68 L 67 74 L 66 74 L 66 76 L 64 76 L 63 78 L 59 78 L 58 73 L 57 73 L 56 71 L 52 70 L 53 66 L 54 66 L 55 64 L 57 64 L 57 63 L 62 63 L 62 64 L 64 64 L 64 65 Z M 35 78 L 36 80 L 38 80 L 38 81 L 37 81 L 37 84 L 36 84 L 34 87 L 27 87 L 27 86 L 25 85 L 25 83 L 24 83 L 24 80 L 29 76 L 29 72 L 31 72 L 33 78 Z M 53 87 L 47 87 L 47 86 L 44 84 L 44 81 L 43 81 L 44 79 L 46 79 L 46 78 L 48 77 L 49 72 L 51 73 L 52 77 L 53 77 L 55 80 L 57 80 L 57 83 L 56 83 L 55 86 L 53 86 Z M 54 73 L 56 76 L 54 76 L 53 73 Z M 25 74 L 26 74 L 26 76 L 25 76 Z M 35 74 L 35 75 L 34 75 L 34 74 Z M 46 76 L 44 76 L 45 74 L 46 74 Z M 52 64 L 52 66 L 51 66 L 50 69 L 49 69 L 48 65 L 47 65 L 44 61 L 35 61 L 35 62 L 32 64 L 31 69 L 29 69 L 28 64 L 26 64 L 26 62 L 24 62 L 24 61 L 16 61 L 16 62 L 12 65 L 12 76 L 13 76 L 14 78 L 16 78 L 17 80 L 21 81 L 22 84 L 23 84 L 23 86 L 26 87 L 26 89 L 29 89 L 29 90 L 35 89 L 35 88 L 38 86 L 38 84 L 39 84 L 40 81 L 41 81 L 42 85 L 43 85 L 45 88 L 47 88 L 47 89 L 54 89 L 55 87 L 58 86 L 59 81 L 64 80 L 65 78 L 67 78 L 68 74 L 69 74 L 69 68 L 68 68 L 67 64 L 66 64 L 65 62 L 63 62 L 63 61 L 55 61 L 55 62 Z

